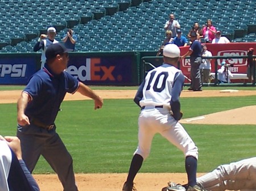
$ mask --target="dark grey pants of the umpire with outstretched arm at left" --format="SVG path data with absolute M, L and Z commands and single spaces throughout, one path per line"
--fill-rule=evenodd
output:
M 57 173 L 64 191 L 77 191 L 72 156 L 55 129 L 48 131 L 35 125 L 18 125 L 17 137 L 20 139 L 23 160 L 32 173 L 42 155 Z

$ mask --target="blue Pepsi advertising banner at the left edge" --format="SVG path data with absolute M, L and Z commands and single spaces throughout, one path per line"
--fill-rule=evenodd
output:
M 10 54 L 11 55 L 11 54 Z M 0 59 L 0 84 L 27 84 L 36 71 L 36 59 L 16 57 Z

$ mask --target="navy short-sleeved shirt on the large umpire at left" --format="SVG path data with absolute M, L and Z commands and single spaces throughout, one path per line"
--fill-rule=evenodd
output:
M 25 114 L 28 118 L 36 118 L 46 125 L 52 125 L 57 117 L 60 104 L 65 94 L 74 94 L 79 87 L 79 80 L 66 71 L 56 75 L 46 66 L 32 75 L 24 92 L 32 97 L 27 104 Z

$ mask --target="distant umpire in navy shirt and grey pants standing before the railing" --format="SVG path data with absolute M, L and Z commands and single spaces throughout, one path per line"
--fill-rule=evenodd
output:
M 190 45 L 188 52 L 185 53 L 183 56 L 181 56 L 181 60 L 183 60 L 187 56 L 190 56 L 191 86 L 188 88 L 188 90 L 193 90 L 193 91 L 202 91 L 201 90 L 202 83 L 201 83 L 200 69 L 199 69 L 199 66 L 202 62 L 202 58 L 201 58 L 202 46 L 199 39 L 200 39 L 199 34 L 192 32 L 191 33 L 192 44 Z

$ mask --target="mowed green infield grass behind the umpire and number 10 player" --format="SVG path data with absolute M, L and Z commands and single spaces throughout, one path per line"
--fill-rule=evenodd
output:
M 255 105 L 255 96 L 181 98 L 184 118 Z M 76 173 L 128 172 L 137 147 L 139 108 L 132 99 L 105 99 L 94 111 L 92 100 L 64 101 L 56 119 L 57 133 L 73 156 Z M 16 104 L 1 104 L 0 134 L 15 135 Z M 241 113 L 242 114 L 242 113 Z M 255 125 L 184 124 L 199 147 L 198 172 L 255 156 Z M 184 156 L 160 135 L 140 172 L 185 172 Z M 53 173 L 40 158 L 34 173 Z

